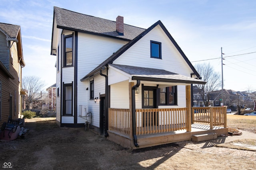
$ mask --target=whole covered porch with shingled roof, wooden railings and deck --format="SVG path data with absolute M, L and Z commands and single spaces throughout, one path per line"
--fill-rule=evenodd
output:
M 139 149 L 191 140 L 195 135 L 228 134 L 226 107 L 192 107 L 191 84 L 206 84 L 194 74 L 109 64 L 108 76 L 110 141 Z M 139 87 L 141 91 L 135 93 Z

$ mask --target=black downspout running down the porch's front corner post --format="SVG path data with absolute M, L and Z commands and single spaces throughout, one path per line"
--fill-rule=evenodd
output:
M 135 110 L 135 88 L 139 86 L 140 86 L 140 80 L 137 80 L 137 84 L 132 87 L 132 135 L 133 135 L 135 147 L 139 147 L 138 139 L 136 135 L 136 110 Z

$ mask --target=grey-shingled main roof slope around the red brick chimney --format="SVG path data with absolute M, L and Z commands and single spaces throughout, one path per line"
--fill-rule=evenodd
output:
M 143 28 L 124 24 L 124 35 L 116 32 L 116 21 L 80 14 L 54 6 L 57 28 L 86 31 L 132 40 L 145 31 Z

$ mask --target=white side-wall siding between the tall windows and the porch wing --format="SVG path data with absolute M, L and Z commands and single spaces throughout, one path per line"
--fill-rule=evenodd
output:
M 94 100 L 90 100 L 90 81 L 86 80 L 81 82 L 80 79 L 104 60 L 108 59 L 108 57 L 126 43 L 127 41 L 78 33 L 77 109 L 79 111 L 79 105 L 85 105 L 86 112 L 92 112 L 92 124 L 96 127 L 100 127 L 100 103 L 99 100 L 96 103 Z M 102 73 L 106 74 L 106 71 L 103 70 Z M 86 90 L 86 88 L 88 88 L 88 90 Z M 104 76 L 98 74 L 94 77 L 94 89 L 94 98 L 98 97 L 100 99 L 99 94 L 105 94 Z M 78 117 L 78 123 L 84 122 L 84 119 Z

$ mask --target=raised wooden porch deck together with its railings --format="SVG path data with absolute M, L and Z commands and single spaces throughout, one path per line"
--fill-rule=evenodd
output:
M 194 135 L 228 134 L 226 107 L 204 107 L 203 113 L 197 113 L 196 109 L 198 107 L 191 109 L 192 113 L 195 112 L 192 121 L 187 114 L 188 108 L 136 109 L 134 128 L 128 109 L 109 109 L 108 139 L 129 149 L 140 149 L 191 140 Z M 136 132 L 132 133 L 134 129 Z M 134 136 L 137 139 L 137 147 L 134 145 Z

